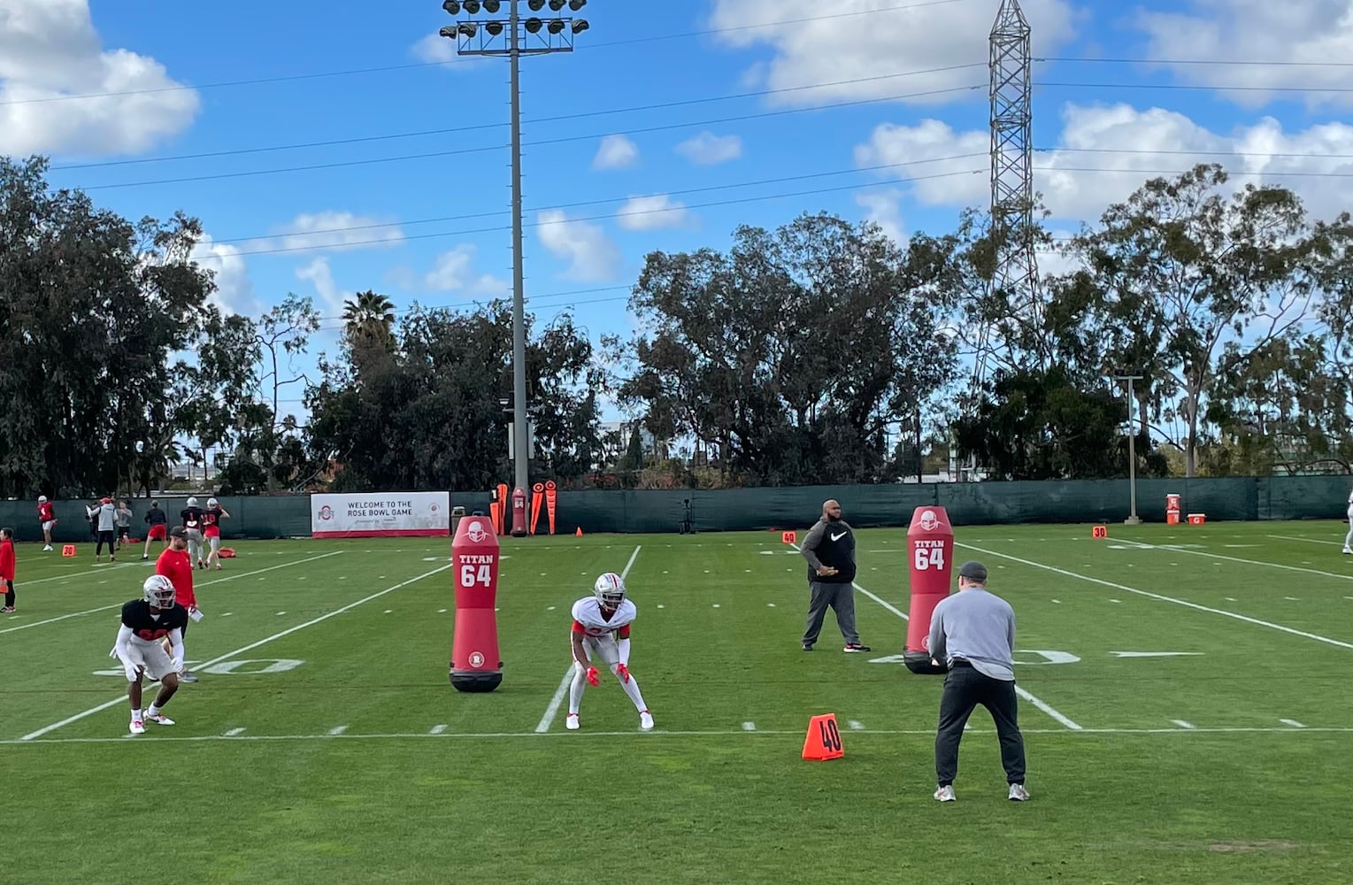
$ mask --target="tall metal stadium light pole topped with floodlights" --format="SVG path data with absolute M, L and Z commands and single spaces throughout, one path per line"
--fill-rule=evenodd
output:
M 522 16 L 521 4 L 528 15 Z M 456 41 L 457 55 L 506 57 L 511 91 L 511 364 L 513 364 L 513 470 L 514 489 L 530 491 L 530 426 L 526 415 L 526 298 L 522 272 L 521 222 L 521 57 L 574 51 L 574 37 L 586 31 L 587 19 L 561 15 L 578 12 L 587 0 L 444 0 L 453 16 L 480 12 L 490 18 L 459 18 L 438 34 Z M 547 11 L 548 8 L 548 11 Z M 507 18 L 501 18 L 502 12 Z M 513 535 L 526 533 L 513 525 Z

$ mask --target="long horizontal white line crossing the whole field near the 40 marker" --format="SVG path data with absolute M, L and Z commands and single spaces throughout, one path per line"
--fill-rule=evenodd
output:
M 974 735 L 994 735 L 996 731 L 992 728 L 971 728 L 970 733 Z M 1331 727 L 1331 728 L 1268 728 L 1268 727 L 1237 727 L 1237 728 L 1082 728 L 1080 731 L 1072 731 L 1069 728 L 1020 728 L 1026 735 L 1119 735 L 1124 738 L 1132 736 L 1147 736 L 1147 735 L 1353 735 L 1353 727 Z M 342 735 L 246 735 L 244 728 L 231 728 L 223 735 L 184 735 L 181 738 L 169 736 L 165 731 L 157 729 L 154 742 L 185 742 L 185 743 L 203 743 L 203 742 L 267 742 L 267 740 L 413 740 L 418 738 L 423 739 L 460 739 L 460 740 L 515 740 L 515 739 L 548 739 L 559 738 L 567 740 L 582 740 L 587 738 L 637 738 L 641 740 L 652 740 L 655 738 L 717 738 L 729 739 L 737 735 L 744 738 L 762 738 L 762 736 L 789 736 L 802 738 L 804 729 L 796 728 L 792 731 L 743 731 L 741 728 L 736 731 L 653 731 L 653 732 L 640 732 L 640 731 L 603 731 L 603 732 L 580 732 L 579 735 L 572 735 L 563 731 L 555 732 L 538 732 L 538 731 L 520 731 L 520 732 L 398 732 L 398 733 L 342 733 Z M 852 735 L 882 735 L 882 736 L 896 736 L 896 735 L 912 735 L 917 738 L 934 738 L 934 728 L 867 728 L 863 731 L 854 731 Z M 9 739 L 0 740 L 0 747 L 32 747 L 38 744 L 124 744 L 131 746 L 141 742 L 129 740 L 126 735 L 118 738 L 43 738 L 37 740 L 24 739 Z

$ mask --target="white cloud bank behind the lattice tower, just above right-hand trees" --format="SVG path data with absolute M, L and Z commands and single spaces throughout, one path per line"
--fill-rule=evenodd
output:
M 915 180 L 980 161 L 951 160 L 989 145 L 986 131 L 955 133 L 938 120 L 919 126 L 885 124 L 855 149 L 858 165 L 916 158 L 934 164 L 900 166 L 912 179 L 912 195 L 932 206 L 986 206 L 982 176 Z M 1055 149 L 1034 156 L 1034 189 L 1058 219 L 1095 221 L 1151 177 L 1173 177 L 1199 162 L 1219 162 L 1231 184 L 1280 184 L 1291 188 L 1318 218 L 1353 203 L 1353 126 L 1323 123 L 1285 131 L 1273 118 L 1231 133 L 1214 133 L 1177 111 L 1137 110 L 1128 104 L 1078 106 L 1062 110 Z M 1338 173 L 1338 177 L 1331 176 Z

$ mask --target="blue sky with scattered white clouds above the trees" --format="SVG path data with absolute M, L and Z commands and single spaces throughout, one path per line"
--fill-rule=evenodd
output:
M 528 310 L 629 333 L 645 253 L 802 211 L 951 229 L 988 200 L 997 5 L 589 0 L 576 51 L 522 62 Z M 1350 7 L 1023 3 L 1057 60 L 1034 69 L 1053 227 L 1211 160 L 1348 207 Z M 223 306 L 310 295 L 311 350 L 333 350 L 354 291 L 399 310 L 510 291 L 507 64 L 457 58 L 448 23 L 440 0 L 0 0 L 0 153 L 47 153 L 53 184 L 130 218 L 196 215 Z

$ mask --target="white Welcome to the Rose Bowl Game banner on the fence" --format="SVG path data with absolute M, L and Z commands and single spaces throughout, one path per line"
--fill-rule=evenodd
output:
M 314 537 L 438 537 L 451 535 L 449 491 L 310 495 Z

